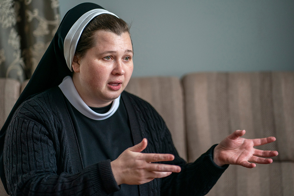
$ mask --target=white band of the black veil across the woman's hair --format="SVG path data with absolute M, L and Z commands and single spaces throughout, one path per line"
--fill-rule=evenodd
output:
M 78 40 L 84 28 L 95 16 L 98 16 L 100 14 L 111 14 L 113 16 L 116 16 L 115 14 L 105 9 L 92 9 L 83 14 L 67 33 L 64 39 L 64 57 L 66 60 L 66 64 L 71 71 L 73 71 L 71 64 L 73 62 L 74 54 L 76 52 L 76 45 L 78 44 Z

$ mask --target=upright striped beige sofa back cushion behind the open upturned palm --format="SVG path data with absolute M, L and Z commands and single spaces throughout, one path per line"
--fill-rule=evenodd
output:
M 238 129 L 245 138 L 275 136 L 258 148 L 294 161 L 294 72 L 193 73 L 183 88 L 189 161 Z

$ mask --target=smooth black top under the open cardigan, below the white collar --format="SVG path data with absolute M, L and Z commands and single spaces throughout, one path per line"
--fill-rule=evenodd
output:
M 97 113 L 106 113 L 111 108 L 91 108 Z M 115 160 L 127 148 L 133 146 L 129 119 L 123 101 L 116 113 L 105 120 L 93 120 L 72 106 L 76 120 L 76 135 L 81 150 L 83 166 L 100 161 Z M 121 185 L 121 190 L 110 195 L 139 195 L 138 185 Z

